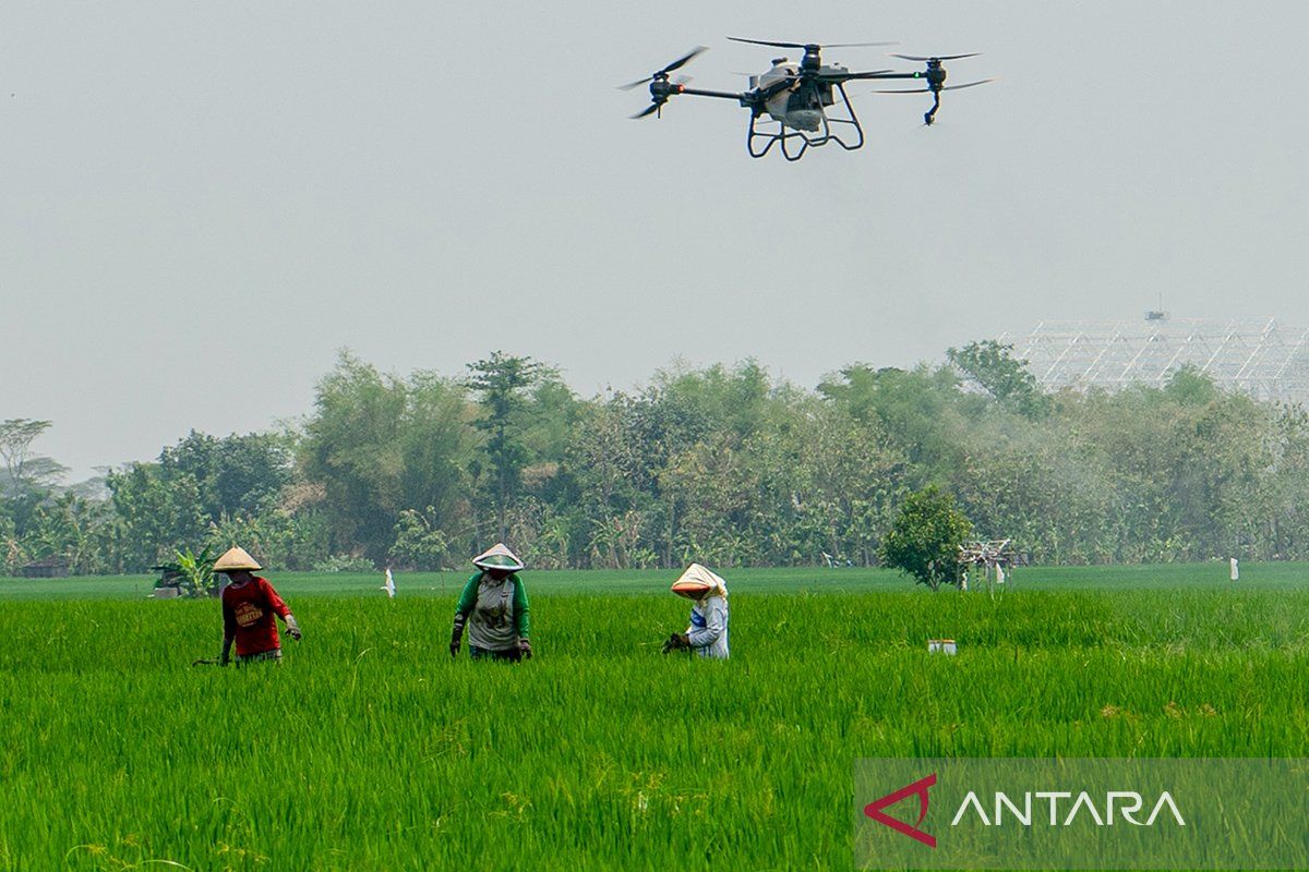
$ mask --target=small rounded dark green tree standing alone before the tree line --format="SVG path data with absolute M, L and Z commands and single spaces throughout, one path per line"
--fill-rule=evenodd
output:
M 973 524 L 956 509 L 954 498 L 929 485 L 905 499 L 882 540 L 881 560 L 933 591 L 958 586 L 963 578 L 959 544 L 971 533 Z

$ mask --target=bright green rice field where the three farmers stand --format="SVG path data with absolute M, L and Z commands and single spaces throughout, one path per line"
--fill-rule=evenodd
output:
M 517 667 L 450 659 L 461 577 L 272 574 L 241 671 L 213 601 L 0 580 L 0 869 L 848 869 L 860 757 L 1305 756 L 1309 584 L 1168 569 L 729 574 L 728 663 L 658 654 L 668 574 L 533 573 Z

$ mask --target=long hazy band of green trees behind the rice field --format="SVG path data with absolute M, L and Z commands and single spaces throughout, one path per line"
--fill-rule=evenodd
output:
M 1042 394 L 1012 349 L 844 367 L 814 388 L 754 361 L 581 397 L 495 353 L 458 375 L 343 352 L 283 430 L 190 433 L 64 488 L 0 424 L 0 569 L 139 573 L 242 544 L 284 570 L 870 565 L 912 494 L 1037 562 L 1309 558 L 1309 414 L 1191 369 L 1162 388 Z

